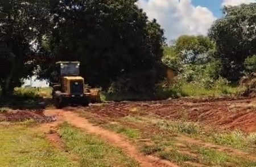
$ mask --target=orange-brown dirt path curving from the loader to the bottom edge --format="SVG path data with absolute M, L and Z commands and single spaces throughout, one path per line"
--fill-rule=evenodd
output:
M 57 118 L 57 122 L 48 123 L 47 126 L 57 126 L 58 123 L 63 121 L 67 121 L 71 123 L 71 125 L 79 127 L 80 129 L 84 129 L 86 132 L 96 134 L 101 136 L 106 142 L 114 145 L 115 147 L 119 147 L 126 153 L 126 155 L 130 156 L 134 160 L 138 161 L 141 167 L 178 167 L 175 164 L 172 164 L 170 161 L 160 160 L 156 157 L 152 156 L 144 156 L 140 153 L 137 148 L 129 142 L 125 136 L 116 134 L 115 132 L 102 129 L 101 127 L 94 126 L 92 123 L 89 123 L 85 118 L 79 117 L 78 114 L 64 111 L 64 110 L 46 110 L 44 112 L 45 115 L 55 116 Z

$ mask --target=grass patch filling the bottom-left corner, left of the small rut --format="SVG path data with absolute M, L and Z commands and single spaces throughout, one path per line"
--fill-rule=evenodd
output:
M 0 125 L 0 162 L 7 166 L 77 166 L 31 127 Z

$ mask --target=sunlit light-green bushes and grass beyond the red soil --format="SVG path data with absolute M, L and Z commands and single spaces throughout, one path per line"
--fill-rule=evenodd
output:
M 184 65 L 176 76 L 175 83 L 160 84 L 159 93 L 164 97 L 217 96 L 236 92 L 227 79 L 220 77 L 220 63 L 213 61 L 205 65 Z

